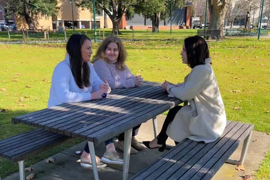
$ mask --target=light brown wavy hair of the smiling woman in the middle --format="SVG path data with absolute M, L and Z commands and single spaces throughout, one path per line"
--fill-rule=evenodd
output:
M 98 59 L 104 60 L 106 63 L 110 64 L 111 62 L 106 58 L 105 51 L 110 43 L 115 43 L 118 45 L 119 55 L 117 58 L 117 68 L 124 70 L 126 67 L 125 61 L 127 59 L 127 51 L 120 38 L 113 35 L 107 36 L 97 48 L 96 54 L 94 55 L 91 63 L 94 63 Z

